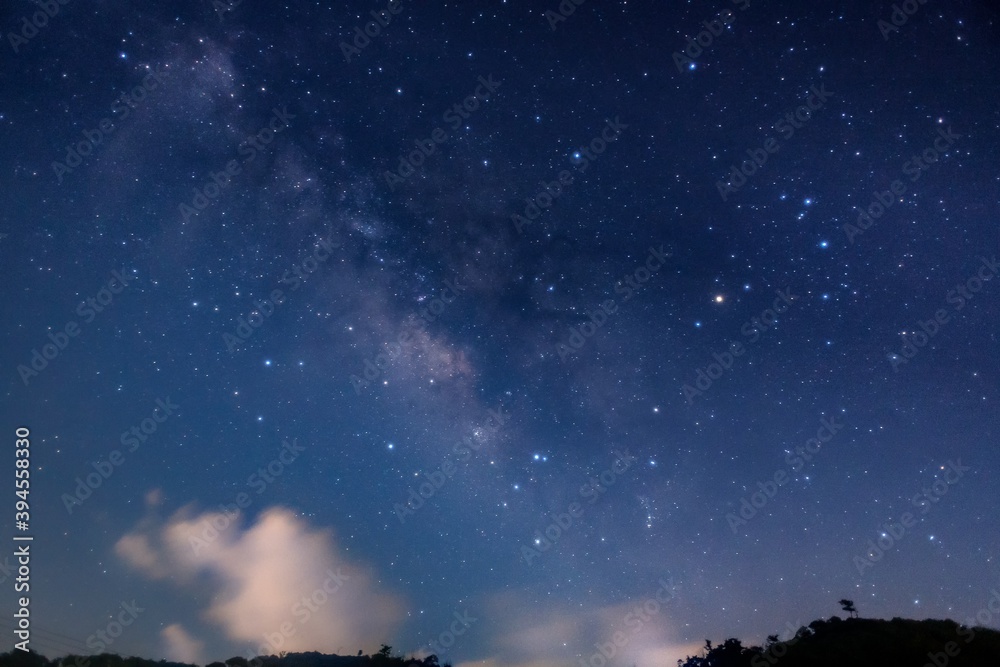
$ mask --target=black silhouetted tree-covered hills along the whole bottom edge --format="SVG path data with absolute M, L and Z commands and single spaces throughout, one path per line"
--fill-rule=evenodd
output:
M 375 655 L 339 656 L 287 653 L 281 656 L 242 657 L 205 667 L 439 667 L 437 656 L 406 659 L 390 655 L 383 645 Z M 568 662 L 570 662 L 568 660 Z M 894 618 L 841 619 L 833 616 L 798 628 L 794 636 L 767 638 L 764 646 L 743 646 L 731 638 L 713 646 L 706 641 L 703 655 L 678 660 L 679 667 L 1000 667 L 1000 632 L 969 627 L 950 620 Z M 123 658 L 104 653 L 69 655 L 49 660 L 35 653 L 12 651 L 0 655 L 0 667 L 195 667 L 185 663 Z M 449 667 L 447 664 L 444 667 Z M 670 667 L 664 665 L 663 667 Z

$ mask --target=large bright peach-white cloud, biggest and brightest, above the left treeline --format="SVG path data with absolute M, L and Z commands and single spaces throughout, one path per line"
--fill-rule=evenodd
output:
M 280 507 L 246 529 L 238 521 L 183 509 L 162 525 L 140 523 L 115 551 L 153 579 L 197 590 L 208 581 L 203 618 L 234 641 L 257 647 L 268 638 L 259 653 L 353 652 L 392 636 L 401 600 L 379 589 L 370 568 L 340 558 L 330 531 Z

